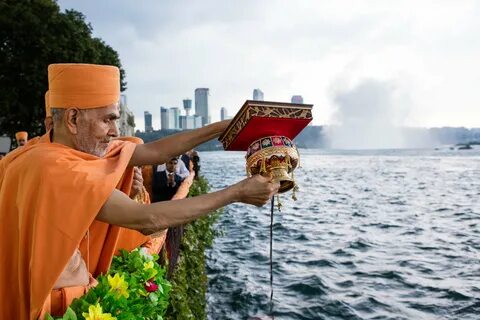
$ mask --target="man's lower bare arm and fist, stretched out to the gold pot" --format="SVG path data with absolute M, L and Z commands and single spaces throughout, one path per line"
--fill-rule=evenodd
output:
M 257 175 L 217 192 L 153 204 L 139 204 L 114 190 L 97 220 L 149 235 L 200 218 L 233 202 L 263 206 L 277 193 L 279 186 L 271 178 Z

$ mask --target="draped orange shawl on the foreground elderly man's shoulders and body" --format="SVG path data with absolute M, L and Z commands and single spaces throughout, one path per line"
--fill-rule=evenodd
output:
M 98 158 L 47 133 L 0 161 L 0 319 L 38 317 L 89 229 L 89 270 L 108 269 L 121 228 L 94 219 L 116 187 L 129 192 L 134 150 L 115 141 Z

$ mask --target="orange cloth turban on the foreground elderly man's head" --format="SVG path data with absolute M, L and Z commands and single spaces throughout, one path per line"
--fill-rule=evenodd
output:
M 99 108 L 120 99 L 120 71 L 114 66 L 56 63 L 48 66 L 52 108 Z

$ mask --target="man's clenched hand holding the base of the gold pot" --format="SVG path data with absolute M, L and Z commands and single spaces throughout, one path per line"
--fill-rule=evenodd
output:
M 234 187 L 238 188 L 240 202 L 261 207 L 278 192 L 280 183 L 273 182 L 271 177 L 255 175 L 240 181 Z

